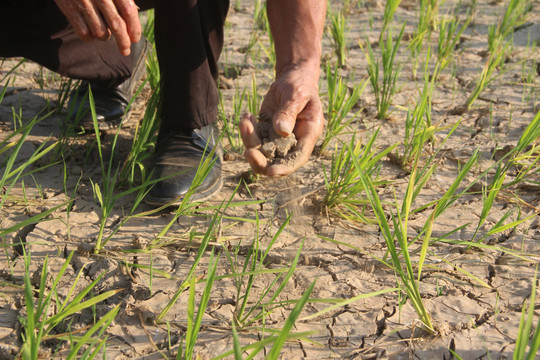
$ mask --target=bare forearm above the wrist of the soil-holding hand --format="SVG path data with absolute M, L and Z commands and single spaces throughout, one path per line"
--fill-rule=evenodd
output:
M 326 0 L 268 0 L 276 48 L 276 75 L 307 67 L 319 78 Z

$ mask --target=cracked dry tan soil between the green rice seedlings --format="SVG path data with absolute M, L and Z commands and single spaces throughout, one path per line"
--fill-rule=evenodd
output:
M 334 10 L 340 8 L 335 3 L 332 5 Z M 450 14 L 457 3 L 449 0 L 444 2 L 439 9 L 441 16 Z M 488 27 L 499 21 L 506 3 L 474 2 L 472 22 L 457 45 L 453 64 L 440 76 L 431 104 L 432 121 L 439 131 L 435 133 L 433 141 L 424 147 L 421 161 L 425 162 L 434 151 L 441 150 L 435 157 L 436 171 L 420 192 L 414 208 L 440 199 L 474 151 L 479 151 L 478 162 L 471 168 L 458 192 L 473 182 L 476 184 L 435 221 L 434 239 L 450 234 L 446 236 L 446 241 L 434 242 L 430 246 L 419 282 L 422 299 L 436 329 L 434 336 L 421 330 L 418 316 L 410 302 L 403 301 L 403 294 L 400 296 L 395 290 L 385 292 L 395 288 L 397 282 L 394 271 L 381 261 L 389 260 L 389 257 L 379 228 L 347 221 L 323 206 L 322 199 L 326 192 L 323 167 L 329 168 L 331 151 L 313 155 L 305 167 L 287 178 L 253 179 L 241 154 L 231 151 L 230 145 L 224 140 L 227 153 L 223 170 L 224 186 L 215 199 L 199 205 L 189 216 L 178 219 L 171 211 L 145 215 L 144 212 L 152 208 L 141 204 L 135 211 L 141 216 L 131 218 L 124 224 L 134 196 L 122 197 L 116 201 L 107 220 L 105 236 L 115 231 L 119 224 L 123 225 L 106 244 L 104 251 L 93 255 L 101 208 L 94 197 L 91 181 L 100 183 L 102 178 L 95 134 L 86 134 L 65 139 L 67 146 L 60 152 L 63 156 L 51 152 L 36 162 L 33 169 L 40 168 L 38 171 L 25 176 L 13 188 L 2 189 L 0 196 L 5 200 L 0 208 L 2 231 L 47 209 L 61 206 L 47 216 L 46 221 L 28 224 L 1 240 L 0 359 L 17 356 L 21 347 L 22 327 L 18 317 L 24 317 L 26 312 L 21 287 L 25 273 L 21 241 L 25 243 L 26 252 L 31 254 L 30 275 L 35 286 L 39 284 L 39 274 L 46 257 L 49 259 L 49 272 L 54 275 L 63 265 L 67 254 L 74 251 L 71 266 L 58 287 L 61 298 L 68 294 L 73 283 L 77 283 L 77 293 L 100 275 L 102 278 L 94 288 L 93 296 L 121 289 L 92 310 L 85 310 L 70 318 L 72 331 L 84 331 L 84 326 L 91 324 L 95 318 L 120 305 L 118 316 L 106 332 L 109 335 L 106 347 L 108 359 L 174 357 L 187 329 L 189 291 L 179 295 L 162 319 L 158 316 L 186 279 L 209 227 L 210 244 L 195 275 L 198 279 L 207 276 L 213 248 L 214 253 L 220 254 L 216 274 L 221 277 L 214 283 L 195 347 L 195 353 L 203 359 L 224 354 L 233 348 L 231 323 L 244 294 L 244 290 L 238 293 L 237 281 L 245 286 L 248 279 L 227 276 L 235 272 L 227 253 L 237 252 L 233 263 L 237 266 L 236 272 L 240 272 L 248 261 L 246 255 L 255 239 L 259 239 L 262 252 L 275 240 L 263 268 L 276 272 L 268 271 L 255 276 L 248 308 L 271 287 L 278 271 L 290 266 L 301 244 L 303 248 L 296 270 L 284 291 L 275 299 L 282 302 L 281 305 L 269 312 L 263 321 L 240 326 L 241 345 L 255 343 L 270 336 L 272 329 L 281 329 L 294 306 L 290 301 L 298 300 L 316 280 L 311 298 L 334 299 L 333 303 L 361 294 L 382 293 L 312 318 L 308 317 L 332 303 L 309 301 L 292 332 L 313 333 L 287 342 L 281 355 L 283 359 L 450 359 L 450 349 L 463 359 L 511 358 L 521 309 L 531 294 L 535 269 L 540 261 L 540 220 L 532 216 L 540 211 L 538 164 L 530 178 L 499 193 L 477 238 L 487 234 L 506 214 L 506 223 L 532 216 L 530 219 L 487 236 L 483 248 L 468 249 L 464 244 L 455 244 L 473 239 L 482 212 L 482 190 L 493 180 L 494 164 L 505 151 L 516 145 L 539 111 L 537 78 L 540 56 L 538 50 L 531 46 L 533 42 L 540 41 L 540 2 L 536 0 L 532 1 L 528 22 L 513 34 L 513 44 L 508 49 L 505 64 L 508 71 L 481 94 L 472 109 L 464 113 L 458 111 L 474 88 L 487 59 Z M 459 10 L 461 19 L 465 18 L 471 6 L 472 3 L 467 1 L 462 3 Z M 232 118 L 233 97 L 238 91 L 246 89 L 250 94 L 252 79 L 255 79 L 258 94 L 262 97 L 272 80 L 271 64 L 259 42 L 253 47 L 251 55 L 246 55 L 254 27 L 253 10 L 252 2 L 236 1 L 231 5 L 226 26 L 220 88 L 228 118 Z M 348 54 L 341 74 L 349 79 L 349 87 L 367 77 L 366 57 L 359 42 L 365 44 L 367 39 L 375 53 L 379 51 L 377 40 L 383 12 L 382 1 L 360 1 L 352 4 L 346 12 Z M 398 151 L 401 151 L 406 109 L 414 106 L 423 86 L 422 69 L 427 41 L 418 64 L 415 64 L 415 59 L 406 48 L 416 28 L 417 12 L 415 2 L 403 1 L 396 13 L 395 28 L 406 22 L 404 38 L 408 40 L 402 44 L 399 52 L 398 61 L 403 64 L 403 71 L 390 117 L 385 120 L 375 117 L 375 97 L 368 85 L 353 110 L 362 111 L 340 136 L 341 140 L 348 141 L 351 133 L 356 132 L 357 138 L 362 138 L 366 143 L 379 129 L 377 149 L 382 151 L 400 143 Z M 262 31 L 259 30 L 259 33 L 262 34 Z M 325 61 L 333 64 L 335 54 L 329 34 L 327 31 L 324 38 L 323 56 Z M 261 37 L 261 43 L 267 44 L 266 38 Z M 438 33 L 434 31 L 431 44 L 435 48 L 437 37 Z M 5 87 L 7 84 L 0 104 L 0 139 L 5 139 L 29 119 L 46 114 L 58 103 L 58 87 L 63 80 L 37 64 L 27 61 L 6 77 L 19 61 L 6 59 L 0 63 L 0 85 Z M 532 73 L 532 83 L 524 80 L 524 74 L 528 71 Z M 128 122 L 119 132 L 119 150 L 115 157 L 117 163 L 121 163 L 129 152 L 149 94 L 150 90 L 146 87 L 137 98 Z M 321 97 L 323 103 L 327 104 L 324 75 L 321 79 Z M 243 106 L 243 110 L 246 106 Z M 65 116 L 65 109 L 61 109 L 38 122 L 22 146 L 15 166 L 25 162 L 43 142 L 64 141 L 61 129 Z M 458 121 L 459 126 L 443 144 L 450 128 Z M 110 155 L 114 134 L 115 131 L 111 130 L 101 135 L 106 159 Z M 339 144 L 337 139 L 331 143 L 330 149 L 334 144 Z M 490 167 L 491 170 L 481 176 Z M 386 181 L 386 185 L 379 187 L 378 191 L 385 201 L 388 214 L 395 211 L 391 206 L 395 201 L 394 196 L 399 203 L 402 201 L 410 177 L 408 170 L 396 164 L 393 156 L 385 157 L 380 163 L 377 174 Z M 517 175 L 516 168 L 510 170 L 505 183 L 510 183 Z M 125 189 L 120 187 L 116 192 Z M 73 202 L 68 212 L 64 203 L 70 197 L 73 197 Z M 251 200 L 257 200 L 257 203 L 220 209 L 223 217 L 217 224 L 212 224 L 215 209 L 229 199 L 232 204 Z M 208 208 L 212 206 L 214 209 Z M 433 206 L 428 206 L 411 215 L 409 239 L 413 239 L 422 229 L 432 210 Z M 373 218 L 369 207 L 366 214 Z M 278 233 L 289 215 L 289 224 L 275 237 L 274 234 Z M 155 245 L 156 236 L 162 229 L 171 224 L 158 246 L 151 246 Z M 414 262 L 418 261 L 419 247 L 419 243 L 411 246 L 410 250 L 415 254 Z M 80 271 L 82 275 L 77 277 Z M 204 283 L 201 282 L 196 287 L 197 303 L 203 289 Z M 540 302 L 536 300 L 535 308 L 539 306 Z M 257 307 L 257 311 L 260 309 Z M 538 310 L 535 315 L 538 316 Z M 251 318 L 254 317 L 255 314 Z M 54 333 L 66 331 L 68 329 L 64 326 Z M 67 347 L 59 344 L 56 339 L 44 341 L 43 358 L 65 356 Z M 259 353 L 257 358 L 264 357 L 269 348 Z M 245 352 L 244 356 L 248 353 Z

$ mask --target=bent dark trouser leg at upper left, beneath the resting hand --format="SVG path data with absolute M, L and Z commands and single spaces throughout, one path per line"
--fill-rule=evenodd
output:
M 116 86 L 136 59 L 113 38 L 83 42 L 53 0 L 0 0 L 0 57 L 22 56 L 64 76 Z

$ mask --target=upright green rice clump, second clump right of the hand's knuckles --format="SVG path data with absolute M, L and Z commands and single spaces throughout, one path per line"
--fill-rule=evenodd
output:
M 401 73 L 402 64 L 396 64 L 396 53 L 403 37 L 405 25 L 395 40 L 392 39 L 392 31 L 386 33 L 386 39 L 379 42 L 381 57 L 375 60 L 371 44 L 367 41 L 366 59 L 369 81 L 375 94 L 377 106 L 377 118 L 385 119 L 392 104 L 394 94 L 397 92 L 397 80 Z M 381 35 L 382 37 L 382 35 Z M 360 44 L 362 46 L 362 44 Z

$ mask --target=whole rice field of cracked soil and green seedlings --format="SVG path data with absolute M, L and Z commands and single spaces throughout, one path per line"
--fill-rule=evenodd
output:
M 325 133 L 286 178 L 237 128 L 273 79 L 264 9 L 231 2 L 203 203 L 143 201 L 155 52 L 86 133 L 76 81 L 0 59 L 0 359 L 540 359 L 540 2 L 329 1 Z

